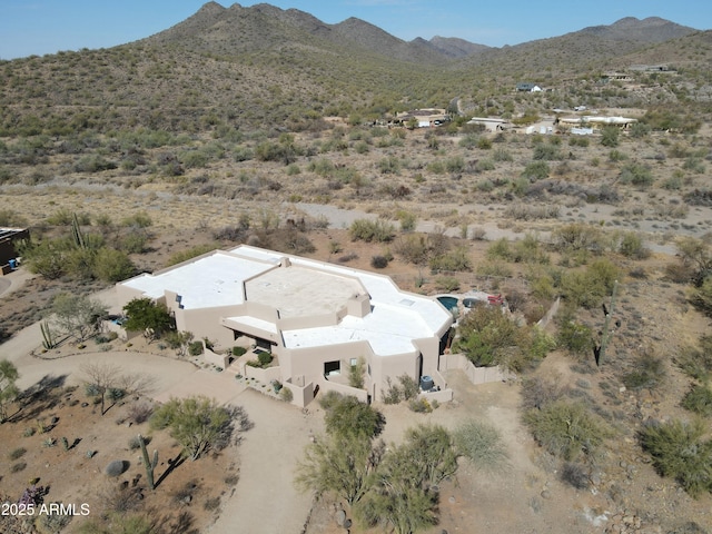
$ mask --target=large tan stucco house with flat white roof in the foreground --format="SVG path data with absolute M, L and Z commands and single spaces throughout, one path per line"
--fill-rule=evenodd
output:
M 164 303 L 179 330 L 216 352 L 238 344 L 270 350 L 274 376 L 300 406 L 319 389 L 380 400 L 404 374 L 445 386 L 438 367 L 453 315 L 384 275 L 243 245 L 137 276 L 118 284 L 117 295 L 121 306 L 140 297 Z M 365 384 L 355 389 L 348 372 L 359 358 Z

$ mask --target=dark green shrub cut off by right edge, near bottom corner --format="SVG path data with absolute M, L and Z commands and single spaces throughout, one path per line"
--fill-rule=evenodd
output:
M 712 492 L 712 442 L 703 441 L 705 433 L 700 421 L 674 419 L 646 425 L 640 441 L 657 473 L 676 479 L 691 496 L 699 497 Z

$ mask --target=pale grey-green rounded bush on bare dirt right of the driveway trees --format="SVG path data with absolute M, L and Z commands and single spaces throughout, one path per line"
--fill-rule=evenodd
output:
M 457 453 L 481 471 L 501 471 L 507 463 L 506 446 L 500 432 L 487 423 L 471 421 L 453 434 Z

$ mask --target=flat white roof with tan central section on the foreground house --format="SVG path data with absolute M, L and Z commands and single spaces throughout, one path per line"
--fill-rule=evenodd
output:
M 435 299 L 402 291 L 387 276 L 246 245 L 123 283 L 151 298 L 175 291 L 186 309 L 244 304 L 244 284 L 248 301 L 271 306 L 281 318 L 335 313 L 353 296 L 368 294 L 370 313 L 364 317 L 347 315 L 337 325 L 283 330 L 287 348 L 368 342 L 378 355 L 407 354 L 415 350 L 414 339 L 439 336 L 453 320 Z M 234 319 L 278 332 L 263 319 Z

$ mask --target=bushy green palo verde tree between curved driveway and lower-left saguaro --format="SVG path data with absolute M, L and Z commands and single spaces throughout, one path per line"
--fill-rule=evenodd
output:
M 227 445 L 235 431 L 236 413 L 206 396 L 171 398 L 150 419 L 152 428 L 167 428 L 191 461 L 211 448 Z

